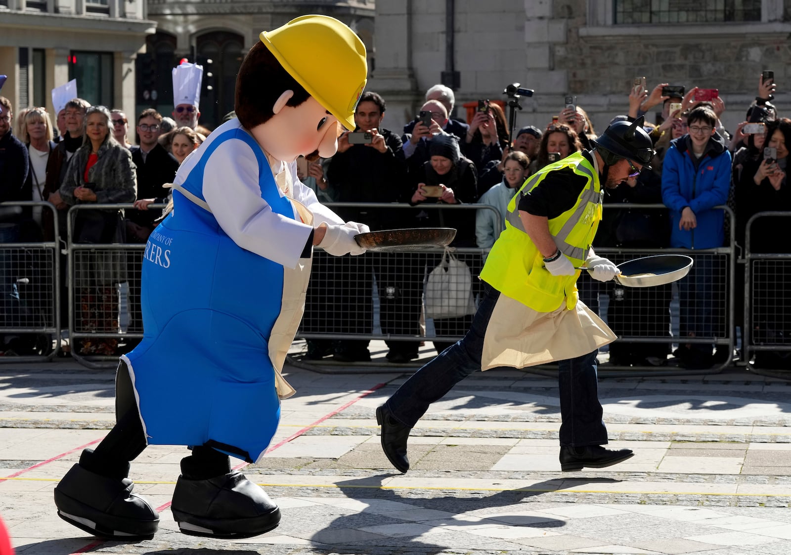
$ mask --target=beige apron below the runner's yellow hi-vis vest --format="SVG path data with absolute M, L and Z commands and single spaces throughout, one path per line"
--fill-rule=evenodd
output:
M 483 338 L 481 369 L 526 368 L 592 353 L 618 336 L 581 301 L 538 312 L 500 295 Z

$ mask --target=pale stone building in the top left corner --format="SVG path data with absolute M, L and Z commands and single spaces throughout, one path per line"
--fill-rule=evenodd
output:
M 0 74 L 14 111 L 44 106 L 78 80 L 79 96 L 134 113 L 134 61 L 154 32 L 145 0 L 0 0 Z

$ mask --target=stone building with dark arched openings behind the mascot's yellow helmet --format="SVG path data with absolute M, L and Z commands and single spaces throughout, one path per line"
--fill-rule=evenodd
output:
M 142 72 L 138 109 L 150 106 L 170 114 L 171 68 L 186 58 L 203 66 L 201 123 L 212 128 L 233 110 L 237 70 L 259 33 L 294 17 L 308 13 L 336 17 L 357 32 L 369 51 L 369 62 L 373 59 L 373 0 L 147 0 L 147 4 L 157 33 L 149 37 L 146 55 L 138 60 Z

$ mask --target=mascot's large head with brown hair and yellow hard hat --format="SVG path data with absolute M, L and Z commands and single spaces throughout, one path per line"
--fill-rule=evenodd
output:
M 262 32 L 237 76 L 240 123 L 278 160 L 331 157 L 341 127 L 354 130 L 365 88 L 365 46 L 333 17 L 297 17 Z

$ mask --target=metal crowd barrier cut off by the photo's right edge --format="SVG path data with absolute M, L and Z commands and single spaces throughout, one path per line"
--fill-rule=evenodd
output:
M 747 221 L 744 233 L 742 344 L 747 367 L 757 373 L 791 370 L 791 254 L 753 252 L 753 225 L 769 218 L 789 217 L 789 212 L 759 212 Z M 773 233 L 785 228 L 774 225 Z

